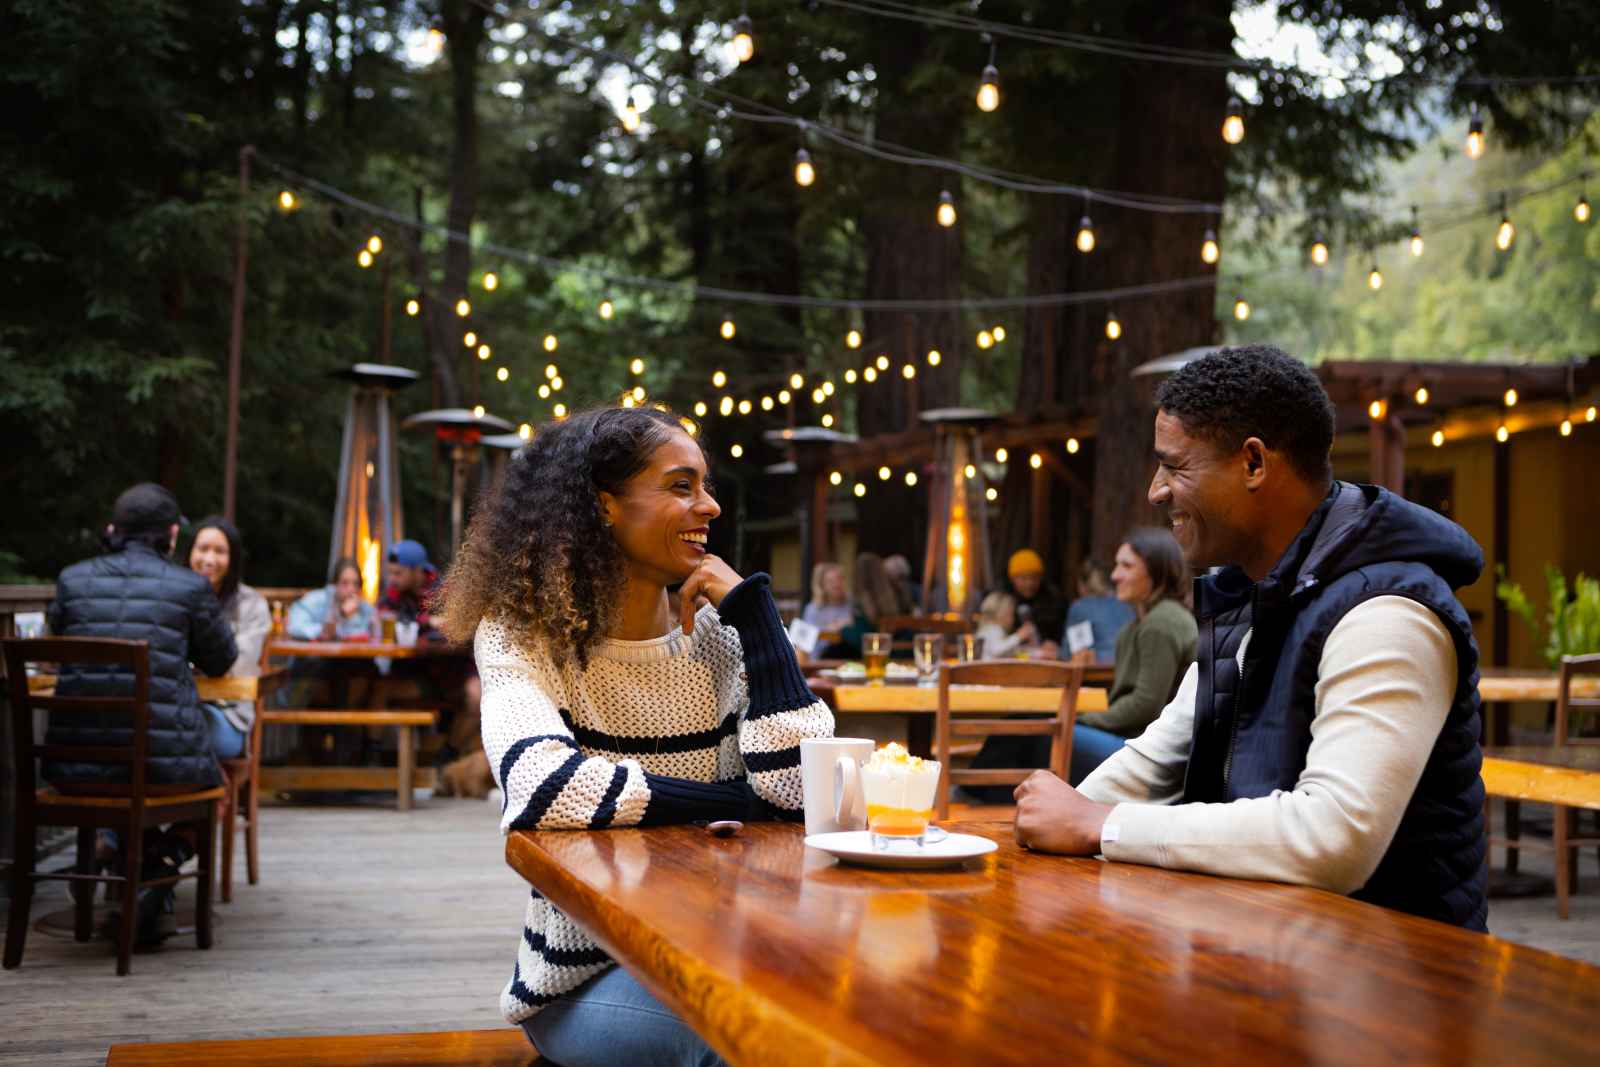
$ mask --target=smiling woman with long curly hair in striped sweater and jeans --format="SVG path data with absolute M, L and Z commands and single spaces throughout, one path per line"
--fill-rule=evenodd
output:
M 666 411 L 584 411 L 512 456 L 443 587 L 445 633 L 477 653 L 502 832 L 800 817 L 800 741 L 834 720 L 768 576 L 707 555 L 720 512 Z M 541 1056 L 722 1062 L 538 891 L 525 926 L 501 1009 Z

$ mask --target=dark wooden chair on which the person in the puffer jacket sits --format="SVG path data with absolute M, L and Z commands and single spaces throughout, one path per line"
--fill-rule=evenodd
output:
M 139 910 L 139 889 L 195 878 L 195 942 L 202 949 L 210 949 L 216 811 L 222 800 L 222 789 L 163 787 L 150 785 L 146 781 L 146 753 L 150 739 L 149 645 L 110 638 L 34 638 L 6 640 L 3 646 L 16 753 L 14 819 L 18 841 L 18 859 L 11 865 L 11 912 L 5 931 L 5 968 L 11 969 L 22 963 L 34 883 L 45 880 L 90 886 L 90 893 L 77 894 L 74 934 L 78 941 L 88 941 L 93 936 L 93 886 L 99 883 L 122 886 L 117 974 L 126 974 L 128 958 L 133 952 L 134 920 Z M 27 685 L 27 664 L 30 662 L 120 667 L 133 675 L 133 693 L 117 697 L 34 694 Z M 131 737 L 123 745 L 34 744 L 34 709 L 45 710 L 53 717 L 126 715 L 133 728 Z M 34 781 L 35 760 L 126 765 L 130 781 L 125 785 L 82 787 L 70 793 L 58 792 L 53 787 L 37 789 Z M 192 824 L 198 829 L 195 851 L 200 862 L 192 875 L 146 881 L 139 877 L 144 861 L 144 830 L 163 824 Z M 34 869 L 30 851 L 35 829 L 42 825 L 78 829 L 75 872 L 45 873 Z M 122 875 L 94 873 L 94 830 L 98 829 L 117 830 L 120 835 Z

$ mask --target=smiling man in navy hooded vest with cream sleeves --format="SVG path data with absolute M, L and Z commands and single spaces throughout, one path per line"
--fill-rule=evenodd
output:
M 1454 597 L 1483 552 L 1334 482 L 1333 405 L 1270 346 L 1162 384 L 1150 504 L 1197 573 L 1197 662 L 1072 789 L 1018 785 L 1027 848 L 1264 878 L 1486 929 L 1478 651 Z

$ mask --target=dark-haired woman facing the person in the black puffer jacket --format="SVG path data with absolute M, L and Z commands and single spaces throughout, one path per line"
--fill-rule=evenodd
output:
M 261 649 L 272 630 L 272 609 L 267 598 L 243 582 L 245 539 L 238 526 L 221 515 L 206 515 L 195 525 L 195 539 L 189 545 L 189 569 L 211 582 L 211 590 L 222 605 L 222 617 L 234 630 L 238 657 L 227 669 L 229 678 L 256 678 L 261 675 Z M 251 701 L 227 701 L 208 704 L 211 736 L 216 753 L 234 758 L 245 749 L 245 739 L 256 721 L 256 705 Z M 221 717 L 221 723 L 218 721 Z M 219 734 L 224 734 L 219 737 Z

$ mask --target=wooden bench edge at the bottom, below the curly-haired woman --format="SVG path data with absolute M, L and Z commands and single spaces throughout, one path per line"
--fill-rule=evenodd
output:
M 112 1045 L 106 1067 L 530 1067 L 522 1030 L 267 1037 L 250 1041 Z

